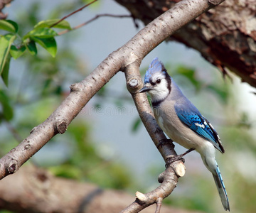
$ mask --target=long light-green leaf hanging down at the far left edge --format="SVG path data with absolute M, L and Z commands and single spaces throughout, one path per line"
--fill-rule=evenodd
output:
M 16 35 L 6 34 L 0 38 L 0 75 L 4 70 L 7 58 L 9 56 L 11 44 L 14 42 Z

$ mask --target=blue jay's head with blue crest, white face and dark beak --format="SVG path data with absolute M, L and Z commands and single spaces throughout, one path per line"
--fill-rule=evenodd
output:
M 146 70 L 144 87 L 139 92 L 149 92 L 153 101 L 164 99 L 171 91 L 171 77 L 158 58 L 149 65 Z

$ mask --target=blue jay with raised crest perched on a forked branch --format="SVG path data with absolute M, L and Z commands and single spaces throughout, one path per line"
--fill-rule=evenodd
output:
M 171 140 L 200 153 L 204 165 L 213 174 L 220 200 L 225 210 L 230 210 L 220 169 L 215 160 L 215 148 L 224 153 L 218 133 L 209 121 L 183 95 L 164 65 L 154 58 L 146 70 L 144 87 L 139 92 L 149 92 L 157 123 Z

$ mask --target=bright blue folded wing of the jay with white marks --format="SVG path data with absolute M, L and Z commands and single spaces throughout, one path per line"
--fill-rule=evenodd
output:
M 199 136 L 206 138 L 207 141 L 213 143 L 213 146 L 218 149 L 221 153 L 224 153 L 224 148 L 221 145 L 218 133 L 213 129 L 210 122 L 204 118 L 200 111 L 188 100 L 181 100 L 176 102 L 174 109 L 178 118 L 192 129 Z

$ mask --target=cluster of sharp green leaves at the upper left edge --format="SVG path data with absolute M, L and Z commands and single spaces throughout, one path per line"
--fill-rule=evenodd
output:
M 60 20 L 40 21 L 31 31 L 25 35 L 20 35 L 18 33 L 18 23 L 11 20 L 0 20 L 0 30 L 4 31 L 4 34 L 0 35 L 0 75 L 6 86 L 8 86 L 11 58 L 17 59 L 26 51 L 31 55 L 36 55 L 38 52 L 36 44 L 41 45 L 50 55 L 55 57 L 57 53 L 55 36 L 58 33 L 51 26 L 58 21 Z M 70 24 L 65 20 L 55 24 L 53 28 L 71 29 Z

